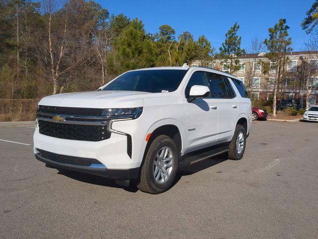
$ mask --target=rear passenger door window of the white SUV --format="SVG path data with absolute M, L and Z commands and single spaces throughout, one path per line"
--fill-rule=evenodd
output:
M 208 82 L 213 98 L 229 98 L 223 76 L 207 72 Z

